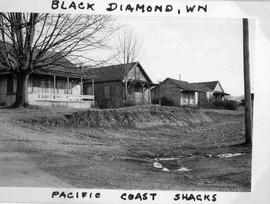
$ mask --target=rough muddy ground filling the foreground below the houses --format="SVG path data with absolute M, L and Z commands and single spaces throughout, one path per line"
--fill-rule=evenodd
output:
M 0 109 L 0 186 L 250 191 L 242 110 L 162 111 L 94 126 L 59 109 Z

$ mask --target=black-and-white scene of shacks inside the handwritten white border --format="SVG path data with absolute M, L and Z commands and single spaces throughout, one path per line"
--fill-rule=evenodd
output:
M 0 12 L 0 187 L 251 192 L 255 38 L 248 17 Z

